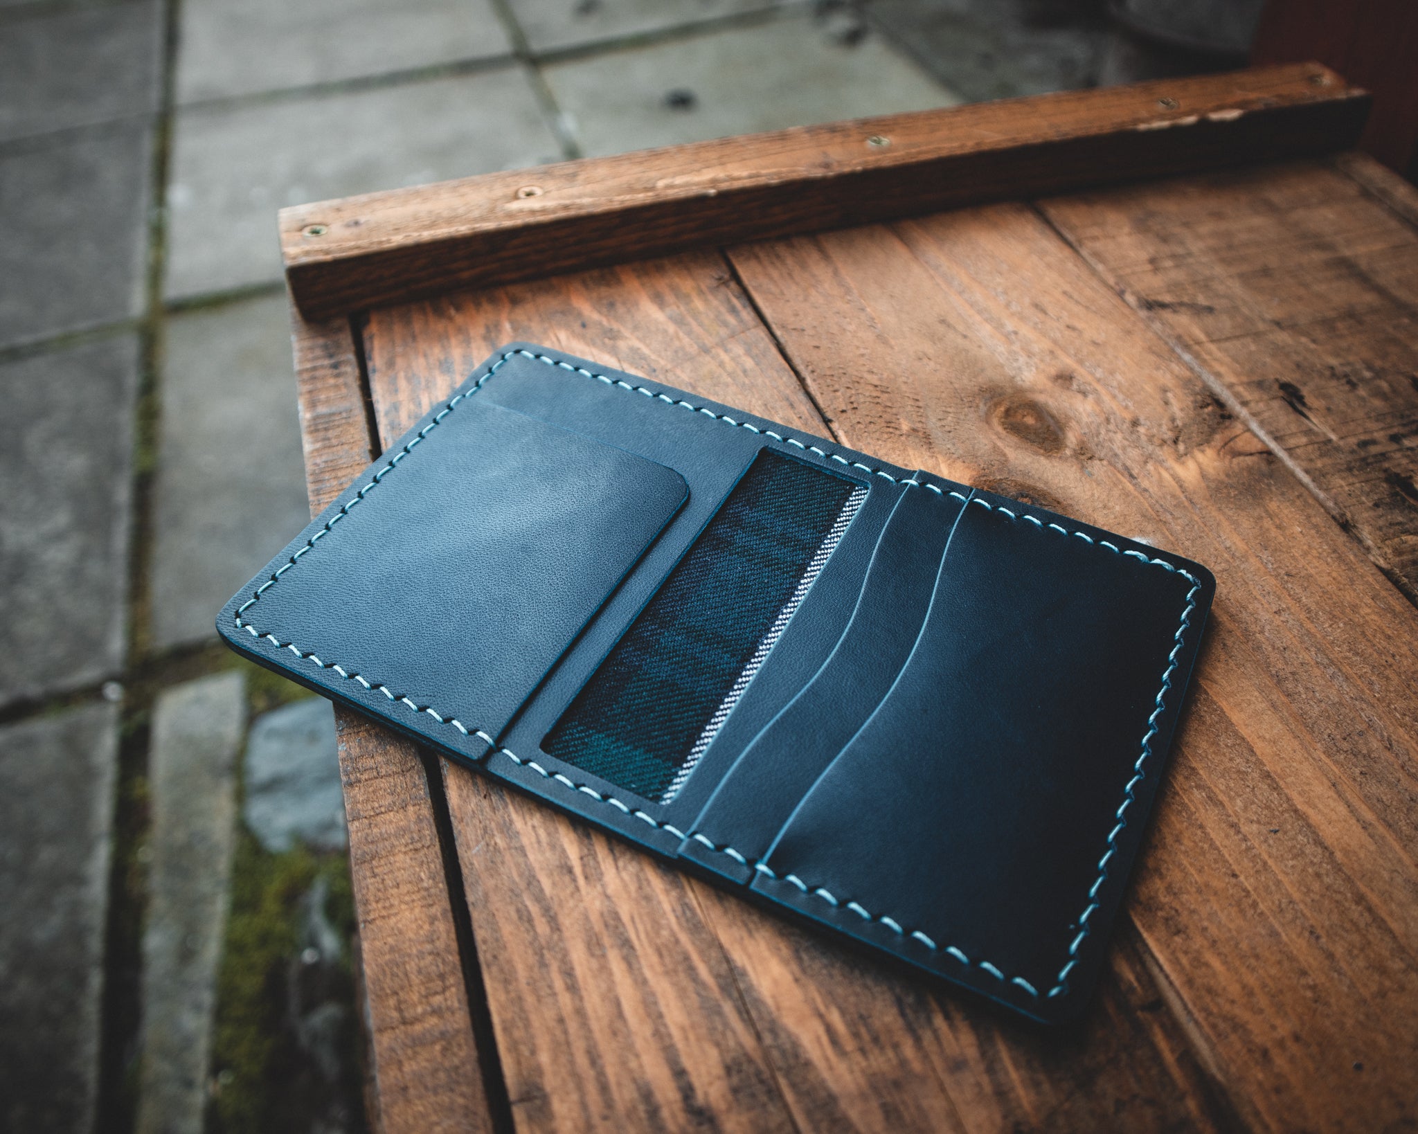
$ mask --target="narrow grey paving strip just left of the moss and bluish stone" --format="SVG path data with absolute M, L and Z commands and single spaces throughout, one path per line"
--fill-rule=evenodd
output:
M 245 724 L 240 672 L 184 682 L 153 707 L 138 1134 L 203 1130 Z

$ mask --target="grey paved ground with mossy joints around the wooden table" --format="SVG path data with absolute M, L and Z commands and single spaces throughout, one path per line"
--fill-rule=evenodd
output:
M 1102 10 L 0 0 L 0 1130 L 363 1128 L 332 714 L 213 632 L 308 516 L 275 211 L 1129 78 Z

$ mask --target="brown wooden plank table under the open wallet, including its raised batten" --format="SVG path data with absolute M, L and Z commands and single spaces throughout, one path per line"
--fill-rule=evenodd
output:
M 313 509 L 530 339 L 1218 577 L 1068 1032 L 342 713 L 383 1130 L 1418 1123 L 1418 194 L 1364 111 L 1280 67 L 282 214 Z

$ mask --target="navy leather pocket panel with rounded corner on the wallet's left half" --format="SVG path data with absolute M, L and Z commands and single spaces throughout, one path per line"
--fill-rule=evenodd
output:
M 489 400 L 464 398 L 437 425 L 414 444 L 438 459 L 407 447 L 218 625 L 289 642 L 356 699 L 417 706 L 486 741 L 688 489 L 662 464 Z

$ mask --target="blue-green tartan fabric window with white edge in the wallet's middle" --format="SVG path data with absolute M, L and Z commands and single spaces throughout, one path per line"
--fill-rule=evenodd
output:
M 763 449 L 542 750 L 672 798 L 865 498 L 855 481 Z

